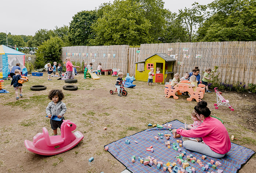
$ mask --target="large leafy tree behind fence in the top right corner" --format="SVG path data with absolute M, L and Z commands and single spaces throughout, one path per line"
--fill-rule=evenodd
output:
M 198 41 L 256 41 L 256 1 L 218 0 L 197 31 Z

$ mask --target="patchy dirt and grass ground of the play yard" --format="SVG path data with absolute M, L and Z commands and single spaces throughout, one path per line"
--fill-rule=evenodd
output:
M 51 89 L 62 89 L 63 80 L 47 80 L 44 76 L 29 76 L 23 84 L 23 97 L 15 99 L 10 80 L 5 81 L 5 89 L 10 93 L 0 93 L 0 172 L 104 172 L 120 173 L 125 167 L 103 146 L 123 137 L 148 128 L 147 124 L 163 124 L 178 119 L 192 123 L 191 112 L 196 101 L 187 101 L 185 96 L 178 100 L 165 98 L 163 84 L 134 81 L 135 88 L 126 88 L 128 95 L 110 95 L 115 89 L 117 77 L 100 76 L 99 80 L 83 79 L 83 74 L 75 76 L 77 91 L 63 90 L 67 105 L 65 119 L 77 125 L 84 139 L 73 149 L 55 156 L 42 156 L 31 153 L 24 140 L 33 137 L 46 127 L 53 135 L 45 108 L 50 102 L 47 95 Z M 46 85 L 44 91 L 31 91 L 31 85 Z M 204 100 L 213 116 L 224 121 L 227 131 L 237 140 L 231 141 L 256 151 L 256 99 L 253 93 L 224 92 L 223 97 L 230 100 L 235 111 L 228 107 L 214 108 L 215 93 L 206 93 Z M 108 127 L 103 130 L 103 127 Z M 58 129 L 58 135 L 60 130 Z M 94 157 L 93 162 L 88 162 Z M 255 155 L 244 165 L 239 173 L 255 172 Z

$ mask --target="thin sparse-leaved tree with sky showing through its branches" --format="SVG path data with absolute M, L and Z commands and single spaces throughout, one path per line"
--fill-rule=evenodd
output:
M 206 11 L 205 5 L 199 5 L 198 3 L 192 4 L 192 8 L 185 7 L 184 10 L 179 9 L 178 18 L 183 21 L 183 26 L 187 30 L 188 41 L 192 41 L 195 28 L 204 21 L 204 11 Z

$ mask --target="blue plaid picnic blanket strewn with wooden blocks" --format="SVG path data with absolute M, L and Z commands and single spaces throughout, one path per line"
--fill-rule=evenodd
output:
M 172 124 L 172 128 L 180 128 L 184 127 L 184 123 L 173 120 L 166 124 Z M 163 164 L 166 164 L 167 162 L 176 162 L 178 167 L 181 167 L 181 164 L 178 164 L 176 156 L 178 156 L 182 151 L 186 152 L 186 155 L 184 155 L 183 159 L 185 160 L 187 155 L 192 154 L 193 157 L 196 157 L 196 159 L 200 159 L 204 165 L 207 165 L 208 162 L 214 160 L 214 163 L 216 161 L 221 162 L 222 166 L 217 166 L 217 169 L 225 170 L 225 172 L 229 173 L 236 173 L 239 169 L 241 169 L 241 166 L 244 165 L 253 154 L 255 154 L 255 151 L 248 149 L 246 147 L 231 143 L 231 149 L 229 153 L 221 158 L 212 158 L 208 157 L 203 160 L 202 155 L 200 153 L 196 153 L 193 151 L 189 151 L 185 149 L 182 145 L 181 152 L 178 152 L 174 149 L 172 149 L 172 143 L 176 142 L 177 139 L 181 140 L 182 138 L 173 138 L 173 136 L 170 137 L 168 141 L 171 143 L 171 149 L 168 149 L 165 146 L 165 142 L 167 141 L 165 137 L 163 139 L 160 138 L 158 135 L 158 132 L 165 134 L 165 131 L 167 131 L 168 134 L 171 134 L 171 131 L 169 131 L 169 128 L 165 128 L 163 125 L 163 128 L 149 128 L 144 131 L 138 132 L 134 135 L 131 135 L 129 137 L 125 137 L 122 139 L 119 139 L 115 142 L 109 143 L 108 146 L 109 153 L 114 156 L 119 162 L 121 162 L 128 170 L 132 172 L 163 172 L 163 168 L 157 169 L 157 166 L 154 164 L 151 165 L 145 165 L 141 164 L 138 161 L 138 157 L 140 158 L 146 158 L 148 156 L 154 157 L 157 159 L 157 161 L 163 162 Z M 158 136 L 159 140 L 154 139 L 154 136 Z M 125 144 L 125 141 L 129 140 L 130 144 Z M 138 143 L 135 143 L 134 141 L 137 141 Z M 105 147 L 104 146 L 104 147 Z M 150 151 L 146 151 L 146 147 L 153 146 L 154 152 L 151 153 Z M 135 163 L 132 163 L 131 157 L 135 155 L 136 160 Z M 194 167 L 196 169 L 196 172 L 206 172 L 203 171 L 198 163 L 192 163 L 190 161 L 189 165 L 191 167 Z M 209 167 L 208 172 L 217 172 L 217 169 L 213 169 Z M 167 171 L 168 172 L 168 171 Z

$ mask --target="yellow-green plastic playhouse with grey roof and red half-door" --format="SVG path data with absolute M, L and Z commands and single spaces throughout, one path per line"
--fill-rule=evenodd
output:
M 160 73 L 153 76 L 153 82 L 169 82 L 173 77 L 173 64 L 176 61 L 175 55 L 167 55 L 165 53 L 156 53 L 146 58 L 145 61 L 135 62 L 135 77 L 136 80 L 147 81 L 150 68 L 154 68 L 154 73 L 157 67 L 160 68 Z

